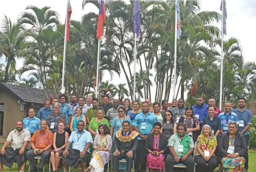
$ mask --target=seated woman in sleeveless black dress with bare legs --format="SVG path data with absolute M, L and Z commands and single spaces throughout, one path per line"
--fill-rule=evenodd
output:
M 60 162 L 60 157 L 63 154 L 63 151 L 67 145 L 68 132 L 65 132 L 65 122 L 63 119 L 59 120 L 58 131 L 53 134 L 53 148 L 51 152 L 51 163 L 52 163 L 52 172 L 58 171 L 58 166 Z

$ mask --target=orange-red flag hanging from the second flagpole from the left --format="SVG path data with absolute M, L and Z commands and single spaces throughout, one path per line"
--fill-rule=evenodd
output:
M 100 0 L 100 12 L 98 17 L 98 26 L 97 26 L 97 33 L 96 38 L 100 40 L 100 37 L 103 36 L 103 22 L 106 18 L 106 10 L 104 0 Z

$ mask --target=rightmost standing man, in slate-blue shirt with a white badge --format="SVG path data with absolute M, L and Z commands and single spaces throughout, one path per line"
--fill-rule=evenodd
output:
M 252 126 L 252 112 L 245 108 L 246 99 L 241 97 L 238 100 L 238 108 L 234 109 L 233 112 L 237 114 L 239 124 L 237 132 L 240 132 L 245 136 L 247 146 L 249 146 L 249 128 Z M 249 165 L 248 152 L 245 156 L 245 169 L 248 171 Z

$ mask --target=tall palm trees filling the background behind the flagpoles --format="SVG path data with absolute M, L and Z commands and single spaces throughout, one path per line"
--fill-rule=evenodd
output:
M 180 1 L 182 35 L 178 39 L 177 72 L 174 69 L 175 1 L 141 0 L 141 35 L 134 47 L 134 1 L 106 0 L 104 39 L 100 45 L 99 95 L 108 92 L 132 100 L 150 98 L 160 102 L 170 99 L 174 77 L 176 90 L 187 92 L 192 104 L 198 95 L 219 101 L 220 30 L 213 26 L 221 15 L 215 11 L 200 11 L 198 0 Z M 82 7 L 99 1 L 83 0 Z M 98 15 L 89 12 L 80 21 L 70 21 L 70 41 L 67 43 L 65 91 L 67 95 L 85 96 L 95 91 Z M 26 25 L 26 27 L 24 27 Z M 0 57 L 6 62 L 0 66 L 0 81 L 61 91 L 64 26 L 57 11 L 50 7 L 26 7 L 17 22 L 4 18 L 0 33 Z M 134 49 L 140 70 L 135 73 L 133 87 Z M 22 69 L 15 70 L 15 61 L 24 59 Z M 125 83 L 104 80 L 104 74 L 124 73 Z M 28 74 L 29 73 L 29 74 Z M 154 73 L 154 75 L 153 75 Z M 17 81 L 15 76 L 19 74 Z M 21 76 L 33 75 L 26 79 Z M 151 80 L 151 77 L 154 79 Z M 156 94 L 152 95 L 152 86 Z M 136 96 L 133 97 L 135 89 Z M 176 97 L 178 96 L 178 93 Z M 237 38 L 224 42 L 224 101 L 245 96 L 256 100 L 256 65 L 244 62 L 241 43 Z M 177 97 L 179 98 L 179 97 Z

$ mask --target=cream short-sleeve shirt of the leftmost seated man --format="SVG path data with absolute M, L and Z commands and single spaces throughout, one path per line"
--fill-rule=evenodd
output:
M 31 135 L 30 132 L 26 129 L 23 129 L 20 134 L 18 133 L 18 130 L 12 130 L 9 135 L 7 136 L 7 139 L 9 142 L 11 142 L 11 148 L 12 149 L 20 149 L 22 148 L 25 141 L 30 141 Z M 30 143 L 26 146 L 27 149 L 30 149 Z

